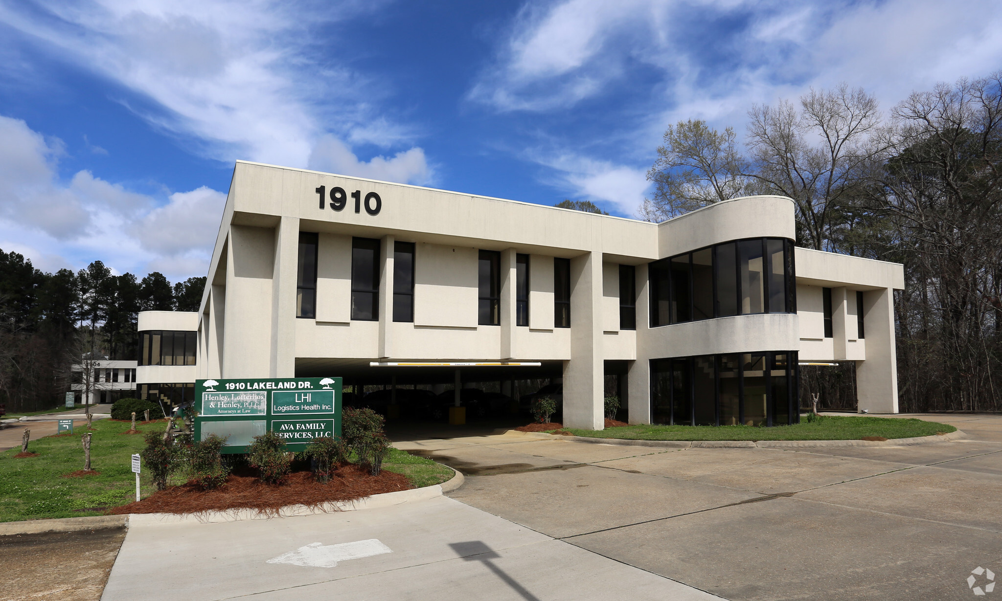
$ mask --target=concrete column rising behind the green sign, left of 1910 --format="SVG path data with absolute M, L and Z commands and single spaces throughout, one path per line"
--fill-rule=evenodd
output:
M 275 232 L 272 276 L 272 378 L 296 377 L 296 278 L 300 219 L 282 217 Z

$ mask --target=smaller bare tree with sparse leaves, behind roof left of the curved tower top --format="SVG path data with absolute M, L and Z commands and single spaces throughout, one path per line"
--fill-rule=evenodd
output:
M 747 161 L 730 127 L 720 133 L 703 120 L 689 119 L 669 125 L 663 140 L 647 170 L 656 188 L 640 207 L 644 219 L 663 221 L 745 192 Z

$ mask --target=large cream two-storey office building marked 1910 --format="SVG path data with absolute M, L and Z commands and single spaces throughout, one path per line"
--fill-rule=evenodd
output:
M 854 361 L 860 409 L 897 413 L 902 265 L 797 248 L 795 228 L 779 196 L 650 223 L 238 161 L 200 312 L 140 315 L 140 337 L 197 330 L 197 365 L 184 334 L 183 367 L 162 343 L 154 367 L 150 338 L 139 382 L 445 384 L 453 367 L 371 364 L 538 363 L 461 378 L 562 379 L 576 428 L 603 427 L 606 375 L 631 423 L 785 424 L 800 363 Z

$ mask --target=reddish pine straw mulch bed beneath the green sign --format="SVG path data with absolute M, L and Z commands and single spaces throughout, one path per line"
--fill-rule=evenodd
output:
M 283 484 L 265 484 L 245 471 L 230 474 L 225 484 L 215 490 L 204 491 L 191 483 L 172 486 L 142 501 L 111 509 L 109 513 L 200 514 L 253 509 L 259 514 L 278 516 L 279 510 L 288 505 L 325 510 L 326 503 L 355 501 L 412 488 L 403 474 L 383 470 L 379 476 L 371 476 L 355 464 L 338 468 L 326 484 L 317 482 L 311 472 L 294 472 Z

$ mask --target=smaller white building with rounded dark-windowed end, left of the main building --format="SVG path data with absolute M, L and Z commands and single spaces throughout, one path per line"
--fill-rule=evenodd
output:
M 139 314 L 137 327 L 138 398 L 170 405 L 190 401 L 197 370 L 198 314 L 144 311 Z

